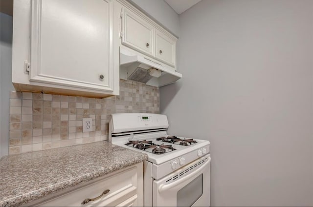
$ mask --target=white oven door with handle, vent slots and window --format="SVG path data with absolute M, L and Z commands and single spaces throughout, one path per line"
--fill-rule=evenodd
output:
M 153 206 L 210 206 L 210 155 L 153 182 Z

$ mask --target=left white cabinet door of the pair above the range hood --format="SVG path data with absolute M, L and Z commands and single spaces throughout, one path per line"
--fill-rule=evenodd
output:
M 147 55 L 154 55 L 154 27 L 123 8 L 122 44 Z

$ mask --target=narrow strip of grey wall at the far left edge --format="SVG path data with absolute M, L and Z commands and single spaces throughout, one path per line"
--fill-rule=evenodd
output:
M 9 101 L 12 85 L 12 17 L 0 13 L 0 157 L 9 150 Z

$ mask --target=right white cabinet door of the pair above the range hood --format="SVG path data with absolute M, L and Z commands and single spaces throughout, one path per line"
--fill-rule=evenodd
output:
M 156 30 L 156 59 L 175 67 L 176 40 Z

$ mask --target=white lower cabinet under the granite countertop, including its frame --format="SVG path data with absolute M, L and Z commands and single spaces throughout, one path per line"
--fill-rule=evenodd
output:
M 25 206 L 143 206 L 143 164 L 124 168 Z

